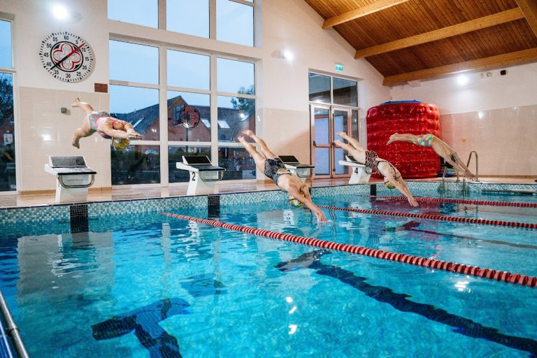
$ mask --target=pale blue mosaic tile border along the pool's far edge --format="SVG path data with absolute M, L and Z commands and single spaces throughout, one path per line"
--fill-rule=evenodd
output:
M 441 191 L 442 182 L 407 182 L 412 190 Z M 445 182 L 446 191 L 462 191 L 462 182 Z M 378 195 L 393 194 L 381 182 L 378 184 L 338 185 L 327 187 L 312 187 L 313 199 L 316 196 L 370 194 L 376 189 Z M 536 190 L 537 185 L 531 184 L 491 184 L 466 182 L 467 192 L 488 190 Z M 169 198 L 133 199 L 118 201 L 102 201 L 87 203 L 64 203 L 50 206 L 30 206 L 27 208 L 0 208 L 0 224 L 20 224 L 22 222 L 58 222 L 68 223 L 71 220 L 71 206 L 87 206 L 87 217 L 102 217 L 103 215 L 124 215 L 125 213 L 156 213 L 159 211 L 176 210 L 181 208 L 207 208 L 211 197 L 219 196 L 220 206 L 238 205 L 243 203 L 261 203 L 264 201 L 287 201 L 287 193 L 281 190 L 265 190 L 261 192 L 224 193 L 196 196 L 174 196 Z M 84 209 L 86 210 L 86 209 Z

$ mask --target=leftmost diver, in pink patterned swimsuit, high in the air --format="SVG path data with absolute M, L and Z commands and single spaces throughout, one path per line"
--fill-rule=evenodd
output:
M 142 138 L 141 134 L 138 134 L 134 130 L 132 124 L 110 117 L 110 114 L 106 112 L 95 112 L 92 106 L 90 106 L 90 103 L 82 102 L 76 98 L 73 107 L 78 107 L 86 113 L 82 127 L 76 129 L 73 135 L 73 146 L 76 148 L 80 148 L 80 138 L 91 136 L 95 132 L 101 134 L 103 138 L 118 138 L 123 140 L 123 143 L 112 141 L 114 148 L 117 148 L 117 145 L 121 145 L 122 149 L 124 149 L 126 148 L 125 144 L 128 145 L 130 139 Z M 127 143 L 124 143 L 125 141 Z

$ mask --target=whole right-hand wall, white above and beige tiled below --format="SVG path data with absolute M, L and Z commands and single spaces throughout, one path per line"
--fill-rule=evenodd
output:
M 436 104 L 443 140 L 465 162 L 478 152 L 481 175 L 537 176 L 537 63 L 505 69 L 469 73 L 466 85 L 452 76 L 396 86 L 392 100 Z

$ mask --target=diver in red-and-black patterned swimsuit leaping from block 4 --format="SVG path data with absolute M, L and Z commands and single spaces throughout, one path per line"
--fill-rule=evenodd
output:
M 366 150 L 363 145 L 359 143 L 355 138 L 350 138 L 345 132 L 338 131 L 338 136 L 346 139 L 349 144 L 343 143 L 342 141 L 334 141 L 334 144 L 338 147 L 343 148 L 347 152 L 355 157 L 357 162 L 364 164 L 371 168 L 372 171 L 378 172 L 381 176 L 384 177 L 384 182 L 387 187 L 394 187 L 399 190 L 401 194 L 406 196 L 406 199 L 411 206 L 417 206 L 417 201 L 414 199 L 414 196 L 410 193 L 410 190 L 406 186 L 405 180 L 401 177 L 401 173 L 392 163 L 388 162 L 386 159 L 378 157 L 377 153 L 373 150 Z

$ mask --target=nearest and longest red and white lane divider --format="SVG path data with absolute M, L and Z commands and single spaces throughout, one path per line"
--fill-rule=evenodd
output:
M 268 231 L 264 229 L 255 229 L 254 227 L 243 227 L 236 224 L 227 224 L 226 222 L 217 222 L 213 220 L 201 219 L 200 217 L 191 217 L 187 215 L 179 215 L 172 213 L 161 213 L 162 215 L 176 217 L 182 220 L 189 220 L 199 222 L 200 224 L 206 224 L 213 227 L 222 227 L 233 231 L 243 232 L 246 234 L 252 234 L 257 236 L 264 236 L 266 238 L 274 238 L 283 241 L 289 241 L 291 243 L 300 243 L 302 245 L 309 245 L 315 248 L 323 248 L 327 250 L 349 252 L 351 254 L 364 255 L 370 257 L 376 257 L 378 259 L 385 259 L 389 261 L 402 262 L 403 264 L 411 264 L 415 266 L 424 266 L 436 268 L 437 270 L 457 272 L 464 275 L 473 275 L 480 278 L 488 278 L 489 280 L 503 281 L 507 283 L 515 283 L 522 286 L 536 287 L 537 277 L 529 275 L 520 275 L 519 273 L 509 273 L 507 271 L 492 270 L 491 268 L 480 268 L 478 266 L 468 266 L 464 264 L 454 264 L 452 262 L 440 261 L 436 259 L 427 259 L 425 257 L 418 257 L 412 255 L 400 254 L 398 252 L 389 252 L 384 250 L 377 250 L 371 248 L 364 248 L 357 245 L 348 245 L 345 243 L 334 243 L 332 241 L 319 240 L 318 238 L 306 238 L 303 236 L 296 236 L 292 234 L 282 234 L 280 232 Z

